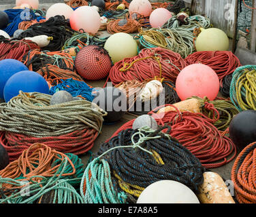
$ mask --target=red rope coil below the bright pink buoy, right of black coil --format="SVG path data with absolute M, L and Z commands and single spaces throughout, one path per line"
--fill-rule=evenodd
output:
M 205 106 L 206 108 L 208 106 L 208 110 L 219 113 L 212 104 L 205 102 Z M 172 107 L 176 109 L 175 106 Z M 158 109 L 155 109 L 155 111 Z M 234 143 L 223 136 L 212 124 L 219 119 L 219 115 L 217 115 L 218 119 L 210 119 L 201 113 L 180 113 L 178 109 L 176 109 L 177 112 L 168 111 L 160 114 L 155 114 L 155 111 L 151 111 L 148 115 L 152 115 L 159 126 L 170 125 L 172 127 L 170 135 L 176 138 L 182 146 L 189 149 L 204 167 L 208 169 L 221 167 L 236 157 Z M 122 130 L 131 128 L 134 121 L 131 120 L 125 123 L 113 136 L 116 136 Z

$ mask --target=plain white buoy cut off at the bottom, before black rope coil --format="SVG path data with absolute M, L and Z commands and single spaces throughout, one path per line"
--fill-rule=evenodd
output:
M 199 200 L 185 184 L 161 180 L 147 186 L 137 203 L 199 203 Z

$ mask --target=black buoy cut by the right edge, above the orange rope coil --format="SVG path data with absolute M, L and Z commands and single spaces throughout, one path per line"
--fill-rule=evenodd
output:
M 229 136 L 236 144 L 238 152 L 256 142 L 256 111 L 242 111 L 236 115 L 229 125 Z

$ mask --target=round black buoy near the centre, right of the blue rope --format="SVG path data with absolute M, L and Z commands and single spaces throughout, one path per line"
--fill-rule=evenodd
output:
M 103 117 L 105 123 L 120 120 L 127 111 L 127 98 L 123 91 L 116 87 L 105 87 L 98 90 L 93 102 L 108 115 Z

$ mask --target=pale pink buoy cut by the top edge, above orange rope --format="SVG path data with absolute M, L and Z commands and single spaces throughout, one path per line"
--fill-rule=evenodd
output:
M 137 13 L 142 16 L 150 16 L 152 5 L 148 0 L 133 0 L 129 5 L 129 13 Z

